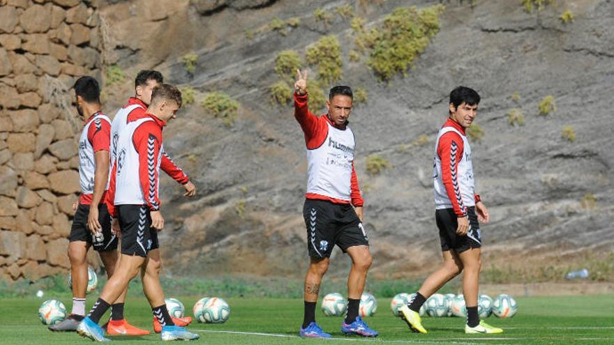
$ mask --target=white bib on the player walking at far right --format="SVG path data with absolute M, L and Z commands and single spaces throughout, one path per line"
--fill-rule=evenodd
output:
M 462 206 L 474 206 L 475 205 L 475 185 L 473 180 L 473 166 L 471 164 L 471 148 L 467 137 L 454 127 L 444 127 L 439 131 L 437 135 L 437 141 L 435 144 L 435 164 L 433 167 L 433 178 L 435 184 L 435 208 L 440 210 L 442 208 L 453 208 L 452 203 L 446 192 L 446 187 L 442 181 L 442 167 L 441 159 L 437 155 L 437 146 L 442 135 L 447 132 L 456 132 L 463 139 L 463 158 L 458 162 L 456 172 L 454 171 L 454 164 L 456 164 L 456 145 L 452 145 L 450 155 L 451 157 L 451 173 L 452 184 L 454 185 L 454 192 L 456 194 L 456 201 L 458 205 Z M 465 212 L 465 210 L 463 210 Z

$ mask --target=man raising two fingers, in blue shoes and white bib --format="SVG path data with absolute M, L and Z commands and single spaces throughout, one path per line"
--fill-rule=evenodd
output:
M 364 201 L 354 169 L 354 132 L 347 126 L 352 112 L 352 89 L 335 86 L 327 100 L 328 113 L 315 116 L 307 107 L 307 71 L 297 70 L 294 84 L 294 117 L 305 134 L 308 179 L 303 216 L 310 256 L 305 277 L 305 314 L 301 337 L 331 337 L 315 323 L 315 305 L 322 277 L 334 245 L 350 254 L 352 269 L 347 279 L 347 315 L 341 325 L 346 335 L 376 337 L 358 314 L 368 268 L 369 241 L 362 226 Z M 353 207 L 352 207 L 353 206 Z

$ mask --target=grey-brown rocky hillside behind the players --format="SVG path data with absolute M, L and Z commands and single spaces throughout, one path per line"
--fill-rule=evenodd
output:
M 405 76 L 396 72 L 382 81 L 368 67 L 368 51 L 356 56 L 352 17 L 364 18 L 367 31 L 383 31 L 396 8 L 440 3 L 439 29 Z M 199 188 L 196 199 L 186 200 L 170 178 L 163 180 L 167 273 L 304 274 L 304 139 L 292 105 L 272 102 L 269 88 L 280 80 L 276 56 L 287 49 L 315 77 L 306 52 L 326 35 L 340 43 L 342 74 L 334 83 L 367 93 L 354 109 L 352 129 L 372 277 L 423 275 L 439 262 L 433 146 L 449 91 L 459 84 L 482 95 L 481 134 L 476 131 L 472 149 L 477 190 L 492 219 L 482 227 L 485 268 L 531 275 L 613 251 L 613 1 L 557 0 L 531 12 L 520 0 L 300 4 L 98 3 L 108 113 L 131 94 L 141 68 L 156 68 L 167 82 L 195 91 L 195 102 L 165 130 L 167 151 Z M 573 20 L 562 20 L 566 10 Z M 200 105 L 212 91 L 239 103 L 234 124 Z M 373 160 L 388 164 L 369 172 Z M 343 277 L 348 260 L 340 251 L 334 256 L 329 272 Z

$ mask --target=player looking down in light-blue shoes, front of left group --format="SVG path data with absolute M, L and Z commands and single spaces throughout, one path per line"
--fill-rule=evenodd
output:
M 158 233 L 164 227 L 160 213 L 159 166 L 162 158 L 162 128 L 177 117 L 181 92 L 169 84 L 153 89 L 147 117 L 128 123 L 117 141 L 117 158 L 113 164 L 109 199 L 114 200 L 110 214 L 121 231 L 121 259 L 88 316 L 77 332 L 98 342 L 108 341 L 98 322 L 117 300 L 130 279 L 141 273 L 143 291 L 153 316 L 162 325 L 162 340 L 193 340 L 198 335 L 175 325 L 164 302 L 157 271 L 160 269 Z M 117 224 L 114 224 L 117 225 Z

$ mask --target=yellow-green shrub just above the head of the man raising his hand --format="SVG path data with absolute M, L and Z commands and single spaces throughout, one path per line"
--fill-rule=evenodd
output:
M 336 36 L 323 36 L 307 48 L 307 62 L 317 64 L 317 78 L 332 84 L 341 78 L 341 47 Z

